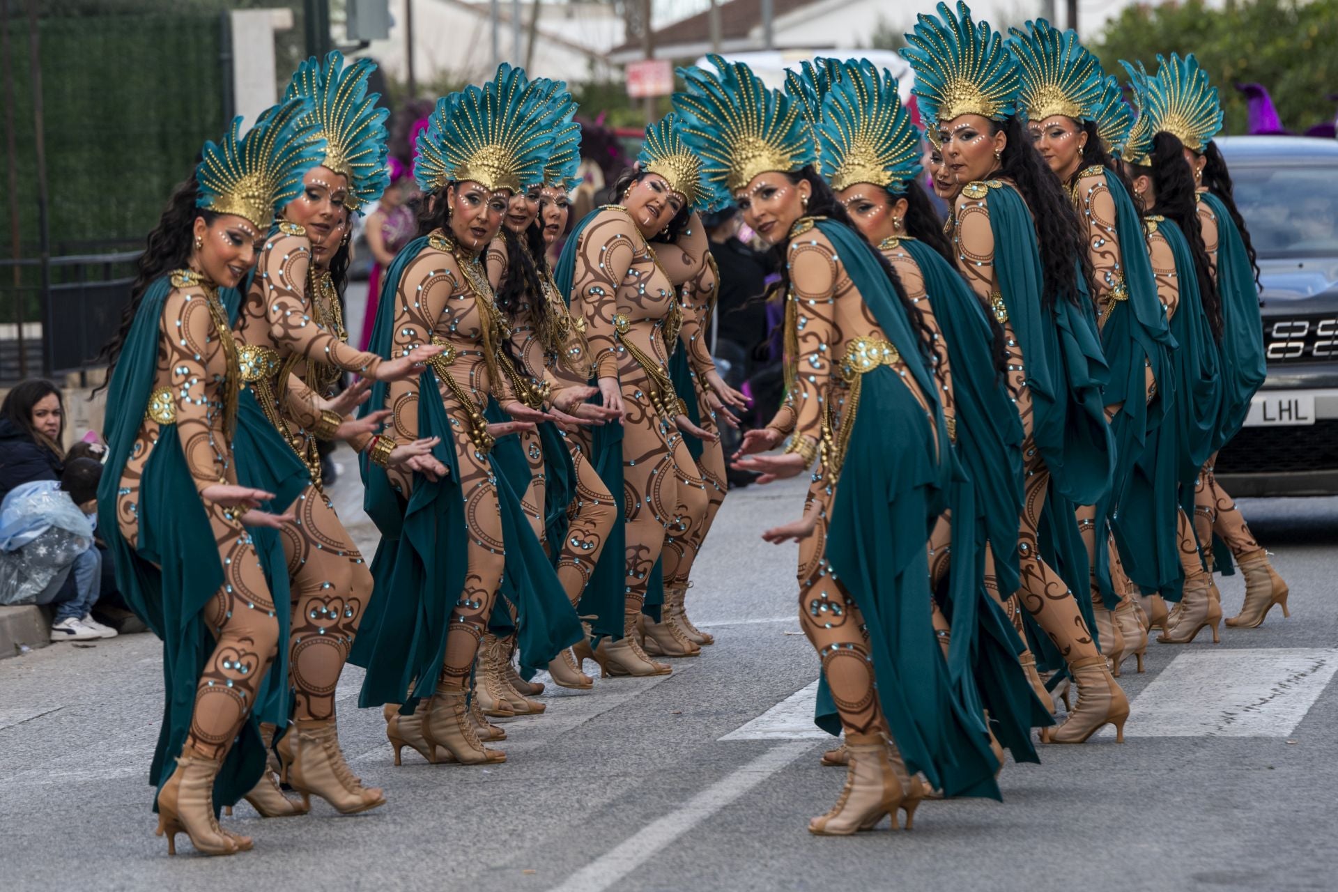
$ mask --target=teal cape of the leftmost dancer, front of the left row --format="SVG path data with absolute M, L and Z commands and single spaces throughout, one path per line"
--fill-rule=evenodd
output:
M 218 544 L 190 476 L 175 424 L 159 428 L 158 443 L 145 464 L 138 547 L 120 535 L 116 518 L 120 473 L 135 448 L 145 407 L 154 389 L 158 328 L 171 290 L 170 278 L 162 275 L 145 292 L 112 369 L 103 431 L 108 447 L 107 473 L 98 485 L 98 526 L 116 567 L 116 584 L 135 615 L 163 642 L 163 721 L 149 773 L 150 784 L 158 788 L 175 770 L 175 758 L 190 730 L 195 689 L 214 653 L 214 635 L 202 610 L 223 584 Z M 276 618 L 286 630 L 288 570 L 278 536 L 266 535 L 274 532 L 270 530 L 249 531 L 270 584 Z M 286 633 L 280 641 L 286 642 Z M 288 649 L 281 646 L 278 650 L 257 695 L 257 709 L 261 703 L 286 703 Z M 265 770 L 258 721 L 253 710 L 223 760 L 214 781 L 215 809 L 238 802 Z

